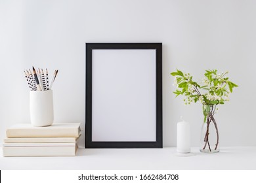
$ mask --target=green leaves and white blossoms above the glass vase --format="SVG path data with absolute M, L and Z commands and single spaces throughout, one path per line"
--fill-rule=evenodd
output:
M 173 93 L 176 97 L 183 95 L 185 105 L 196 103 L 200 101 L 203 105 L 219 105 L 229 101 L 229 94 L 232 93 L 234 87 L 238 85 L 228 80 L 226 73 L 218 74 L 217 70 L 205 70 L 205 77 L 203 78 L 203 85 L 192 80 L 189 73 L 184 74 L 177 69 L 176 72 L 171 73 L 175 76 L 174 86 L 177 90 Z M 200 90 L 205 90 L 202 94 Z

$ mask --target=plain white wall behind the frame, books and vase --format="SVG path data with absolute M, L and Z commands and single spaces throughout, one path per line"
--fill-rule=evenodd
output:
M 255 9 L 253 0 L 1 0 L 0 141 L 10 125 L 30 122 L 24 69 L 59 69 L 55 122 L 84 127 L 85 42 L 163 42 L 163 145 L 176 146 L 181 115 L 192 145 L 200 139 L 202 106 L 186 107 L 172 93 L 169 73 L 178 68 L 198 80 L 205 69 L 230 72 L 240 87 L 216 114 L 221 146 L 255 146 Z

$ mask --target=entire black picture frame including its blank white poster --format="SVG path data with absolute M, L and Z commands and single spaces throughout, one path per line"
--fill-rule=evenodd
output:
M 87 43 L 85 148 L 162 148 L 161 91 L 161 43 Z

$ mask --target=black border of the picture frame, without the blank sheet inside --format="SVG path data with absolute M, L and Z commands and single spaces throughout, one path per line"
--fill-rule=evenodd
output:
M 163 148 L 162 129 L 162 44 L 161 43 L 86 43 L 86 114 L 85 148 Z M 156 141 L 94 142 L 92 141 L 92 50 L 154 49 L 156 50 Z

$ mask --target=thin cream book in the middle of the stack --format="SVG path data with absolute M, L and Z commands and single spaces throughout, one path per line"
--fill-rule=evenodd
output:
M 5 143 L 75 143 L 79 137 L 6 137 Z

